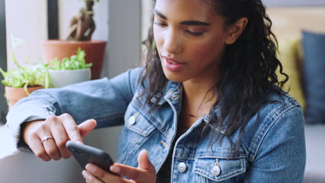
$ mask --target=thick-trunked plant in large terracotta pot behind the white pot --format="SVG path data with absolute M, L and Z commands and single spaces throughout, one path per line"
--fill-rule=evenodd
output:
M 85 7 L 81 8 L 78 15 L 72 17 L 70 21 L 69 35 L 66 40 L 47 40 L 44 42 L 44 59 L 50 62 L 54 58 L 63 60 L 74 55 L 80 47 L 87 53 L 85 61 L 92 62 L 92 79 L 101 76 L 101 68 L 105 55 L 106 42 L 92 40 L 92 33 L 95 30 L 94 11 L 92 6 L 99 0 L 83 0 Z

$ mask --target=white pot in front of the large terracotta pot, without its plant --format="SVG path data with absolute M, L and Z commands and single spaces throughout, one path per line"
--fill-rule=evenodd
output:
M 90 80 L 91 71 L 90 68 L 65 71 L 49 70 L 49 75 L 53 87 L 65 87 L 74 83 Z

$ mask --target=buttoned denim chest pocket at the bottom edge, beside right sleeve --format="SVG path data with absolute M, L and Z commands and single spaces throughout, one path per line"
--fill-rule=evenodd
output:
M 244 157 L 197 157 L 193 172 L 195 182 L 242 182 L 246 171 Z

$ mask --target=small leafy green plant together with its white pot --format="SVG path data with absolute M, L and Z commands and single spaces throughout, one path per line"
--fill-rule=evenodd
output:
M 78 48 L 76 55 L 70 58 L 58 60 L 54 58 L 46 64 L 49 68 L 51 85 L 53 87 L 65 87 L 77 82 L 90 80 L 92 63 L 85 62 L 85 51 Z

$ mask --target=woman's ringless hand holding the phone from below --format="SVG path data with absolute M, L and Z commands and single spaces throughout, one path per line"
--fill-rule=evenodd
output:
M 138 182 L 138 183 L 154 183 L 156 182 L 156 169 L 148 159 L 147 150 L 142 150 L 138 156 L 139 168 L 132 166 L 126 166 L 124 164 L 113 164 L 110 166 L 110 171 L 117 173 L 113 175 L 104 171 L 102 168 L 95 166 L 94 164 L 88 164 L 85 171 L 83 171 L 83 177 L 85 177 L 88 183 L 103 183 L 103 182 Z M 128 177 L 130 180 L 126 180 L 123 177 Z

